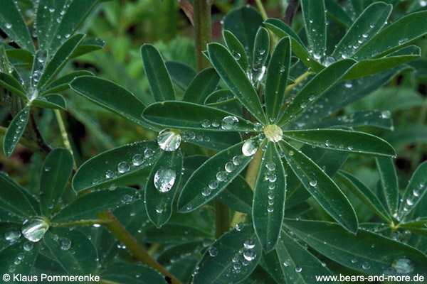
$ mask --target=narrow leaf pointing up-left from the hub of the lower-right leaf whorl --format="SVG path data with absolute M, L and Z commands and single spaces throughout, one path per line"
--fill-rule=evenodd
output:
M 354 195 L 362 200 L 364 204 L 369 207 L 375 214 L 377 214 L 382 219 L 387 222 L 391 222 L 391 216 L 389 212 L 384 208 L 381 201 L 374 195 L 374 192 L 369 190 L 369 188 L 364 185 L 360 180 L 358 180 L 354 175 L 350 175 L 342 170 L 340 170 L 335 177 L 337 180 L 342 182 Z

